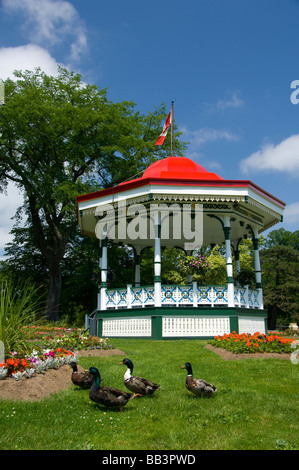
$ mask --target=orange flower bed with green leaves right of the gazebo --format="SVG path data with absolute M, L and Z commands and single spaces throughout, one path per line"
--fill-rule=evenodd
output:
M 292 338 L 284 338 L 278 334 L 265 335 L 259 332 L 254 334 L 237 334 L 232 332 L 222 336 L 215 336 L 209 344 L 217 348 L 227 349 L 235 354 L 244 353 L 291 353 Z

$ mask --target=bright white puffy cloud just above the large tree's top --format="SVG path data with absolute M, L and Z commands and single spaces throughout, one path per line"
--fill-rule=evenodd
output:
M 48 51 L 34 44 L 18 47 L 0 48 L 0 78 L 15 80 L 14 70 L 34 70 L 40 67 L 47 75 L 56 76 L 58 67 L 56 60 Z

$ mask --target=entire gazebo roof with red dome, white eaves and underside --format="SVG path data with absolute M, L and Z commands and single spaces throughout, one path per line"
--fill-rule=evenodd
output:
M 143 219 L 146 223 L 146 220 L 149 220 L 151 207 L 164 204 L 164 207 L 170 208 L 167 219 L 170 234 L 173 234 L 172 221 L 178 221 L 178 212 L 175 219 L 171 209 L 176 208 L 177 211 L 181 211 L 181 224 L 184 224 L 183 207 L 187 212 L 190 209 L 193 218 L 198 208 L 202 207 L 205 246 L 224 242 L 224 232 L 220 224 L 224 216 L 230 217 L 230 239 L 234 242 L 250 235 L 250 228 L 255 228 L 261 233 L 280 222 L 285 208 L 284 202 L 251 181 L 225 180 L 186 157 L 168 157 L 156 161 L 145 170 L 141 178 L 78 196 L 78 219 L 82 233 L 95 236 L 96 224 L 100 220 L 99 216 L 104 216 L 103 209 L 107 204 L 113 208 L 115 221 L 118 220 L 120 223 L 123 219 L 118 216 L 121 213 L 119 209 L 125 207 L 127 224 L 132 220 L 132 214 L 131 219 L 128 218 L 129 207 L 133 212 L 134 207 L 138 207 L 137 204 L 146 208 L 148 218 Z M 142 229 L 144 230 L 144 227 Z M 113 237 L 115 242 L 122 241 L 141 247 L 154 243 L 149 232 L 147 237 L 139 240 L 132 240 L 129 235 L 125 239 L 123 236 L 119 238 L 117 228 L 115 232 L 116 236 Z M 186 242 L 183 233 L 180 239 L 173 238 L 172 235 L 163 239 L 163 233 L 161 235 L 162 246 L 182 246 L 182 243 Z

